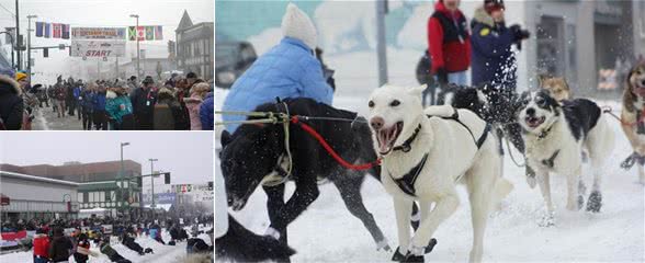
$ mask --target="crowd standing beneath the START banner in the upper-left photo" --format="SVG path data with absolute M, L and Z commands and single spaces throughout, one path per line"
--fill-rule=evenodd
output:
M 58 118 L 78 118 L 83 130 L 212 130 L 213 85 L 194 72 L 139 82 L 57 78 L 31 85 L 24 72 L 0 72 L 0 129 L 30 130 L 35 111 L 52 107 Z M 49 122 L 55 122 L 50 119 Z

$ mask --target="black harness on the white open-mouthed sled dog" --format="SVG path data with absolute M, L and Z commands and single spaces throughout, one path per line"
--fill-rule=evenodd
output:
M 438 116 L 432 116 L 432 115 L 426 115 L 426 116 L 428 118 L 438 117 Z M 462 121 L 460 121 L 460 115 L 459 115 L 459 112 L 456 111 L 456 108 L 454 110 L 454 113 L 451 116 L 441 117 L 441 118 L 454 121 L 454 122 L 461 124 L 464 128 L 466 128 L 466 130 L 468 130 L 468 133 L 473 137 L 473 141 L 477 146 L 477 149 L 482 148 L 482 146 L 484 145 L 484 141 L 486 141 L 486 138 L 488 137 L 488 133 L 490 133 L 490 129 L 491 129 L 490 124 L 486 123 L 486 127 L 484 127 L 484 133 L 482 134 L 482 136 L 479 136 L 479 139 L 475 139 L 475 136 L 473 135 L 473 132 L 471 130 L 471 128 L 468 128 L 468 126 L 466 126 Z M 420 124 L 415 129 L 415 133 L 412 134 L 412 136 L 410 136 L 410 138 L 408 138 L 400 147 L 395 147 L 394 150 L 401 150 L 404 152 L 410 151 L 410 149 L 411 149 L 410 144 L 415 140 L 415 138 L 417 138 L 419 130 L 421 130 Z M 419 161 L 419 163 L 417 163 L 417 165 L 415 165 L 412 169 L 410 169 L 410 171 L 407 172 L 406 174 L 404 174 L 400 179 L 393 178 L 392 173 L 389 171 L 387 172 L 387 174 L 394 181 L 394 183 L 396 183 L 396 185 L 398 186 L 398 188 L 400 188 L 400 191 L 403 191 L 404 193 L 406 193 L 410 196 L 416 197 L 417 195 L 416 195 L 416 190 L 415 190 L 415 182 L 417 182 L 417 178 L 419 178 L 421 170 L 423 170 L 423 167 L 426 165 L 426 162 L 428 161 L 429 155 L 430 155 L 429 152 L 423 155 L 423 158 L 421 158 L 421 161 Z

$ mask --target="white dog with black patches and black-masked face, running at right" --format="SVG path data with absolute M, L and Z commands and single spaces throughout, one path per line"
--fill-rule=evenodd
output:
M 536 181 L 546 203 L 547 215 L 541 225 L 551 226 L 550 172 L 567 178 L 567 209 L 578 210 L 585 203 L 586 186 L 581 181 L 582 150 L 587 150 L 593 167 L 593 186 L 587 210 L 600 211 L 602 164 L 614 145 L 614 135 L 607 117 L 592 101 L 553 99 L 546 90 L 524 92 L 516 104 L 517 121 L 522 126 L 529 165 L 535 170 Z

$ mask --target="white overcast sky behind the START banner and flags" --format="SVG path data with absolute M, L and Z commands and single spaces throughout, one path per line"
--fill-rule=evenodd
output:
M 186 10 L 193 23 L 213 22 L 215 19 L 214 0 L 20 0 L 20 27 L 26 35 L 27 14 L 38 15 L 35 22 L 64 23 L 75 26 L 124 27 L 134 26 L 139 15 L 139 25 L 162 25 L 163 41 L 142 42 L 142 49 L 147 49 L 148 57 L 166 54 L 167 43 L 174 39 L 174 30 L 179 25 L 183 11 Z M 0 31 L 15 26 L 15 0 L 0 0 Z M 35 32 L 34 32 L 35 33 Z M 32 34 L 34 34 L 32 33 Z M 1 39 L 4 43 L 4 36 Z M 26 37 L 25 37 L 26 42 Z M 134 44 L 133 42 L 131 44 Z M 39 38 L 32 35 L 33 46 L 69 45 L 69 39 Z M 129 45 L 127 54 L 136 53 L 136 45 Z M 157 54 L 157 55 L 155 55 Z M 36 58 L 32 71 L 41 72 L 35 81 L 55 80 L 58 73 L 69 70 L 67 52 L 49 50 L 49 58 L 42 59 L 42 52 L 32 54 Z M 10 56 L 9 56 L 10 57 Z M 77 60 L 81 61 L 80 58 Z M 76 61 L 76 60 L 73 60 Z M 111 60 L 113 61 L 113 60 Z M 123 62 L 123 60 L 121 60 Z M 112 62 L 114 64 L 114 62 Z M 97 65 L 94 61 L 92 65 Z M 44 73 L 44 75 L 43 75 Z

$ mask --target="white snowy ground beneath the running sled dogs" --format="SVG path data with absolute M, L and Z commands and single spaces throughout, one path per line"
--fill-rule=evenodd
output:
M 357 104 L 364 102 L 337 106 L 352 108 Z M 600 104 L 611 105 L 614 111 L 618 106 L 616 103 Z M 632 151 L 619 123 L 613 118 L 610 122 L 616 133 L 616 148 L 607 163 L 603 206 L 597 215 L 566 210 L 566 182 L 564 176 L 555 176 L 552 179 L 552 191 L 556 226 L 539 227 L 538 219 L 544 211 L 540 190 L 531 190 L 525 183 L 523 169 L 516 167 L 506 156 L 505 176 L 514 184 L 514 190 L 505 199 L 502 209 L 490 216 L 485 238 L 485 261 L 645 260 L 644 187 L 636 183 L 635 168 L 631 171 L 619 168 L 619 163 Z M 513 153 L 519 157 L 517 151 Z M 220 172 L 218 160 L 215 172 Z M 589 165 L 584 168 L 584 180 L 590 185 Z M 287 184 L 287 195 L 291 195 L 293 183 Z M 389 195 L 372 178 L 365 180 L 362 195 L 367 209 L 391 240 L 391 245 L 396 247 L 396 221 Z M 460 196 L 462 205 L 434 233 L 439 244 L 427 260 L 467 261 L 472 244 L 471 215 L 465 190 L 461 188 Z M 258 190 L 242 211 L 231 214 L 247 228 L 262 233 L 269 225 L 265 201 L 264 193 Z M 389 262 L 392 256 L 375 250 L 372 238 L 361 221 L 346 209 L 338 190 L 331 184 L 320 186 L 318 199 L 288 227 L 288 231 L 290 244 L 298 252 L 292 258 L 293 262 Z

